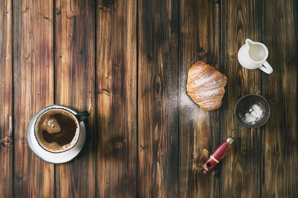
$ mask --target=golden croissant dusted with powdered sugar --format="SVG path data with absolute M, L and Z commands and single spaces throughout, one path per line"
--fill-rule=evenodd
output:
M 203 110 L 220 108 L 227 78 L 204 61 L 198 61 L 188 70 L 187 93 Z

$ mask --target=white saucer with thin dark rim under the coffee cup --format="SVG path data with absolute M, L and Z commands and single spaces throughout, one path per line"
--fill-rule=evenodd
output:
M 28 143 L 29 148 L 32 150 L 32 152 L 34 154 L 36 154 L 42 160 L 49 162 L 49 163 L 53 163 L 53 164 L 66 163 L 66 162 L 74 159 L 74 157 L 81 151 L 81 149 L 84 146 L 85 137 L 86 137 L 85 124 L 84 124 L 84 122 L 80 122 L 80 127 L 81 127 L 80 136 L 79 136 L 79 139 L 78 139 L 77 143 L 75 144 L 74 148 L 67 150 L 65 152 L 60 152 L 60 153 L 52 153 L 52 152 L 45 150 L 38 144 L 38 142 L 34 136 L 34 125 L 35 125 L 36 119 L 38 118 L 39 115 L 41 115 L 44 111 L 48 110 L 48 108 L 53 108 L 53 107 L 65 108 L 65 109 L 73 112 L 74 114 L 77 114 L 77 112 L 75 112 L 71 108 L 61 106 L 61 105 L 55 105 L 55 104 L 41 109 L 31 118 L 31 120 L 28 123 L 27 134 L 26 134 L 27 143 Z

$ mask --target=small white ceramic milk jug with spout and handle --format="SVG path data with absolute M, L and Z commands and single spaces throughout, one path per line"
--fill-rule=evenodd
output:
M 267 74 L 273 72 L 272 67 L 266 61 L 268 57 L 268 49 L 259 42 L 253 42 L 246 39 L 245 43 L 238 51 L 238 61 L 246 69 L 260 68 Z

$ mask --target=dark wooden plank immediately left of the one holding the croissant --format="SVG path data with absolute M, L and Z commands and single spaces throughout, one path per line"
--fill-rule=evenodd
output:
M 139 0 L 140 197 L 178 197 L 178 0 Z

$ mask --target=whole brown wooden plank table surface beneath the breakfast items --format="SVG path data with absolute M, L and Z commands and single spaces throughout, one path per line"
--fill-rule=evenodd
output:
M 272 74 L 241 67 L 247 38 Z M 0 197 L 295 198 L 297 56 L 297 0 L 0 0 Z M 218 110 L 186 93 L 197 60 L 227 76 Z M 281 101 L 204 175 L 255 84 Z M 25 138 L 54 103 L 91 114 L 83 150 L 59 165 Z

